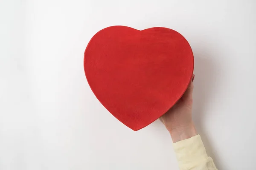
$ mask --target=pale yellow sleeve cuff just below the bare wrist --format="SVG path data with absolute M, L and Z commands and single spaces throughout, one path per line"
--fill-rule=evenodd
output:
M 205 161 L 208 156 L 199 135 L 173 144 L 181 170 L 188 170 Z

